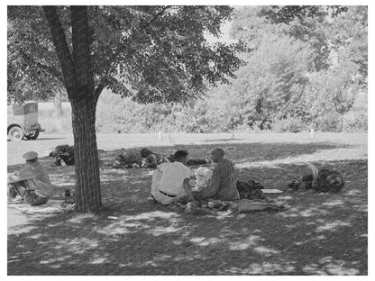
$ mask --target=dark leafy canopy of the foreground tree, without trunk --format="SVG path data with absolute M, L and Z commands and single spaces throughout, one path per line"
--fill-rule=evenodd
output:
M 57 8 L 71 50 L 69 8 Z M 141 103 L 186 102 L 206 85 L 228 83 L 242 65 L 239 46 L 206 42 L 230 20 L 229 6 L 89 6 L 91 55 L 99 84 Z M 59 61 L 40 6 L 8 6 L 8 99 L 24 97 L 20 81 L 33 91 L 63 88 Z M 41 91 L 38 92 L 39 96 Z

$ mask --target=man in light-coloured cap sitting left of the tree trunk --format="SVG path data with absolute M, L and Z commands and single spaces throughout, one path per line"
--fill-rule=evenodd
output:
M 8 175 L 8 195 L 14 198 L 21 195 L 27 204 L 45 204 L 53 192 L 50 176 L 46 168 L 38 162 L 38 153 L 29 151 L 23 154 L 26 167 L 21 171 Z

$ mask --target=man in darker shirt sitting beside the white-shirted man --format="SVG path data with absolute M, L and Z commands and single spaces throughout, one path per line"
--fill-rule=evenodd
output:
M 224 159 L 224 150 L 215 149 L 211 152 L 211 158 L 216 163 L 209 186 L 194 197 L 197 200 L 213 198 L 217 200 L 234 201 L 240 199 L 236 188 L 237 177 L 234 173 L 232 161 Z

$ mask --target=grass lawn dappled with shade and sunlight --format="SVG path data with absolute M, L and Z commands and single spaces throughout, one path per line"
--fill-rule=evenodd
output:
M 23 150 L 41 153 L 69 138 L 8 142 L 8 172 L 21 168 Z M 8 208 L 8 275 L 368 274 L 367 134 L 174 135 L 172 146 L 152 138 L 98 135 L 103 213 L 33 217 Z M 346 185 L 334 195 L 272 195 L 290 205 L 279 213 L 176 213 L 146 200 L 151 169 L 112 168 L 120 148 L 146 145 L 163 154 L 186 149 L 191 158 L 226 148 L 240 178 L 269 188 L 284 190 L 310 163 L 337 169 Z M 41 158 L 61 197 L 74 187 L 74 168 L 52 168 L 53 160 Z

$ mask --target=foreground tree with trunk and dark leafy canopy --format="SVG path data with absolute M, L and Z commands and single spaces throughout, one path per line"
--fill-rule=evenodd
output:
M 55 51 L 46 55 L 59 65 L 56 77 L 63 77 L 72 107 L 78 212 L 102 207 L 95 122 L 103 89 L 142 103 L 169 103 L 202 95 L 204 81 L 228 83 L 242 63 L 238 47 L 211 46 L 204 32 L 218 36 L 232 15 L 228 6 L 8 7 L 15 31 L 8 36 L 26 41 L 25 48 L 28 41 L 50 48 L 53 40 Z M 20 29 L 29 23 L 32 38 L 25 39 Z

